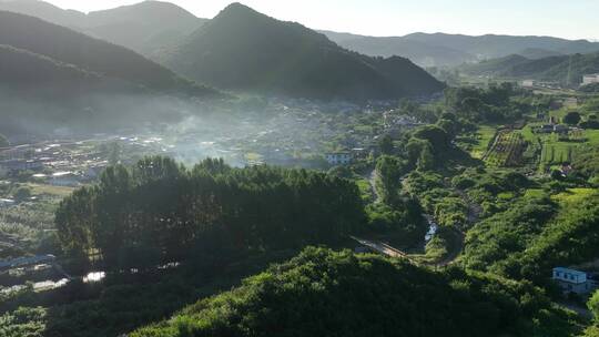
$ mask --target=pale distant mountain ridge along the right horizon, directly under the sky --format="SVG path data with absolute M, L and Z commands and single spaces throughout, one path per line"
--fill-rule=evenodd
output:
M 364 37 L 324 32 L 339 45 L 368 55 L 400 55 L 423 67 L 455 67 L 477 60 L 520 54 L 530 59 L 599 51 L 599 43 L 549 37 L 460 35 L 414 33 L 404 37 Z

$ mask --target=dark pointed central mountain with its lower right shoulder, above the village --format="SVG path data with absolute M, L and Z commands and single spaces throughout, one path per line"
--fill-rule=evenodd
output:
M 294 96 L 390 99 L 443 89 L 407 59 L 349 52 L 298 23 L 240 3 L 190 35 L 164 63 L 219 88 Z

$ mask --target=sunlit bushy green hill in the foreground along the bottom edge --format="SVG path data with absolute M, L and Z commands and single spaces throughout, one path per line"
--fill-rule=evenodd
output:
M 568 319 L 527 283 L 308 247 L 130 336 L 565 336 Z

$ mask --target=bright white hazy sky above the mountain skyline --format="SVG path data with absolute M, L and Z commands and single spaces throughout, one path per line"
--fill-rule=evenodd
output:
M 49 0 L 91 11 L 141 0 Z M 232 1 L 173 0 L 212 18 Z M 313 29 L 370 35 L 412 32 L 554 35 L 599 39 L 599 0 L 245 0 L 263 13 Z

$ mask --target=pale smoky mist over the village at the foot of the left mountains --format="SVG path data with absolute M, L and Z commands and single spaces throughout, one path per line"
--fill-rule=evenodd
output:
M 256 103 L 257 102 L 257 103 Z M 201 101 L 152 94 L 88 94 L 74 99 L 0 94 L 0 133 L 12 144 L 102 140 L 156 152 L 193 164 L 223 157 L 231 165 L 295 163 L 297 150 L 317 142 L 303 112 L 262 100 Z M 314 129 L 314 127 L 312 127 Z

